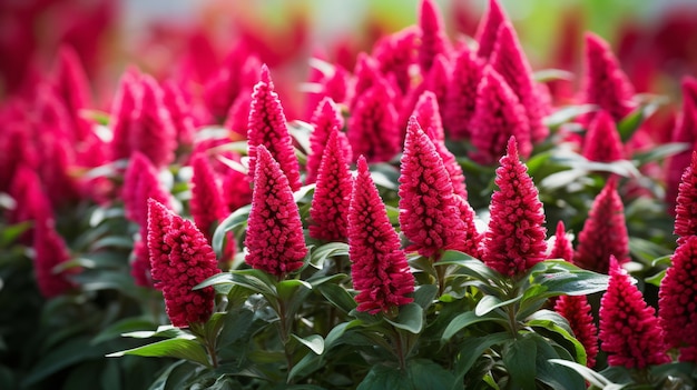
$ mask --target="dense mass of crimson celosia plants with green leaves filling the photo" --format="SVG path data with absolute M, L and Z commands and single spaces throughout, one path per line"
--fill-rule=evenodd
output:
M 8 84 L 0 388 L 697 387 L 697 80 L 664 134 L 599 36 L 569 93 L 497 0 L 416 14 L 302 109 L 253 36 Z

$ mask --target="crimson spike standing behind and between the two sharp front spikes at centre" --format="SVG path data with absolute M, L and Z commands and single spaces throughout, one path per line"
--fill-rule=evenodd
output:
M 310 208 L 310 237 L 326 241 L 345 241 L 348 203 L 353 178 L 348 159 L 342 150 L 338 130 L 330 133 Z

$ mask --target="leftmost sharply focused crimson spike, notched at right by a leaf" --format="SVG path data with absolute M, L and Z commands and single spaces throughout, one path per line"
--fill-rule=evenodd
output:
M 153 279 L 155 287 L 163 291 L 167 316 L 177 328 L 205 323 L 213 313 L 215 291 L 212 287 L 193 288 L 220 272 L 213 248 L 192 221 L 169 212 L 156 201 L 148 204 Z

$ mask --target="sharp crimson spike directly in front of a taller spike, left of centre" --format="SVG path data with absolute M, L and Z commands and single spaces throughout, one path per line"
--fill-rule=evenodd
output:
M 264 146 L 257 148 L 257 158 L 245 261 L 282 279 L 303 267 L 307 254 L 303 223 L 281 164 Z

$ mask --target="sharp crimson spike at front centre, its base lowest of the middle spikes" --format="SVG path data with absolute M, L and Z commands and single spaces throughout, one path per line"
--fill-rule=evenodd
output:
M 348 208 L 348 258 L 357 310 L 375 314 L 411 303 L 406 296 L 414 291 L 414 276 L 363 157 L 357 171 Z

